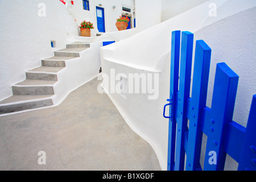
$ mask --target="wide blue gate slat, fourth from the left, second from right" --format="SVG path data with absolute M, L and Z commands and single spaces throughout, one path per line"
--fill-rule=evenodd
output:
M 238 75 L 225 63 L 218 63 L 214 80 L 210 127 L 205 151 L 204 170 L 224 169 L 226 152 L 224 151 L 226 129 L 232 122 L 234 102 L 236 100 Z M 216 163 L 209 162 L 209 155 L 216 155 Z

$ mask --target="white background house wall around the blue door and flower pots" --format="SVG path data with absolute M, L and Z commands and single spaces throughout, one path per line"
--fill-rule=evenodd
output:
M 91 31 L 92 36 L 96 36 L 98 32 L 96 6 L 104 9 L 106 32 L 118 31 L 115 23 L 117 22 L 117 18 L 124 12 L 122 11 L 123 6 L 131 9 L 131 13 L 129 14 L 132 15 L 131 23 L 133 27 L 133 0 L 90 0 L 89 11 L 83 9 L 82 0 L 74 0 L 74 5 L 68 5 L 69 11 L 76 19 L 78 25 L 84 20 L 93 23 L 95 28 Z M 115 9 L 113 9 L 113 6 L 115 6 Z

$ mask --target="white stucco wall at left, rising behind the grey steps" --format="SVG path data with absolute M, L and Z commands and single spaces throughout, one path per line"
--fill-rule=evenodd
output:
M 39 16 L 44 5 L 45 16 Z M 60 1 L 2 0 L 0 23 L 0 100 L 11 96 L 11 85 L 24 80 L 27 69 L 39 67 L 42 58 L 53 56 L 53 50 L 79 34 Z M 51 40 L 56 48 L 51 48 Z

